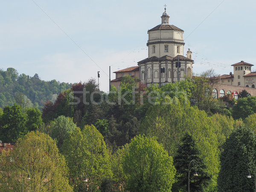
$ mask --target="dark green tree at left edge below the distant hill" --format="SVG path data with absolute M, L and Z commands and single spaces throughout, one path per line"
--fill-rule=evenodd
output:
M 25 124 L 26 115 L 22 113 L 19 105 L 6 106 L 0 117 L 0 139 L 3 142 L 15 142 L 27 134 Z

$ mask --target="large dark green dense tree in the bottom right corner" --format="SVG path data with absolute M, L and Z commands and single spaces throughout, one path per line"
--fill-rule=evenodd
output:
M 254 181 L 247 178 L 247 163 L 256 163 L 255 148 L 256 136 L 250 129 L 241 127 L 230 134 L 220 156 L 219 191 L 255 191 Z

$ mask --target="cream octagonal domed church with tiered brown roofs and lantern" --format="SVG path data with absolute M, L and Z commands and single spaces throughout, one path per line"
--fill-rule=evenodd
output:
M 161 24 L 148 30 L 148 58 L 138 62 L 140 81 L 162 86 L 192 76 L 192 52 L 183 56 L 183 30 L 169 24 L 169 15 L 163 12 Z

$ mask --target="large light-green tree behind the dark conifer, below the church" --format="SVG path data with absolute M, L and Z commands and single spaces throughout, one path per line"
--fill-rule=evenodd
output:
M 161 99 L 160 105 L 148 109 L 139 133 L 144 133 L 147 137 L 156 137 L 171 156 L 176 154 L 186 132 L 196 135 L 195 140 L 201 158 L 207 166 L 206 171 L 212 175 L 208 188 L 214 190 L 219 169 L 219 144 L 215 128 L 205 111 L 200 111 L 185 101 L 176 97 L 171 99 L 168 96 Z

